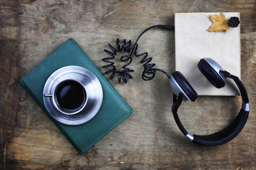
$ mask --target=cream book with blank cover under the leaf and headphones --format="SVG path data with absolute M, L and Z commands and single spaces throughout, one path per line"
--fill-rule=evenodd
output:
M 239 95 L 234 81 L 227 79 L 225 87 L 217 89 L 203 76 L 197 67 L 200 59 L 210 57 L 224 70 L 240 78 L 240 24 L 229 31 L 207 31 L 212 21 L 209 15 L 216 13 L 175 13 L 175 69 L 182 72 L 198 95 Z M 230 17 L 240 13 L 225 13 Z M 243 24 L 243 23 L 242 23 Z

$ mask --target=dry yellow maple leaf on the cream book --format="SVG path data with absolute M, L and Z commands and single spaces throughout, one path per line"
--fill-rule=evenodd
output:
M 226 24 L 227 20 L 225 18 L 224 13 L 220 13 L 220 15 L 209 15 L 212 25 L 207 29 L 207 31 L 229 31 L 229 25 Z

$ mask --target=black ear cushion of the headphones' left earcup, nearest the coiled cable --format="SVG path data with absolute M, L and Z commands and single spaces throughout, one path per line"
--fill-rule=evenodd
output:
M 198 98 L 198 94 L 195 92 L 193 87 L 189 84 L 186 78 L 183 76 L 181 72 L 173 72 L 172 76 L 178 85 L 182 88 L 184 93 L 189 97 L 189 99 L 194 102 L 195 99 Z

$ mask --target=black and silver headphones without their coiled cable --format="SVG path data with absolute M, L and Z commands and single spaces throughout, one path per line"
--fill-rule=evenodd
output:
M 216 87 L 221 88 L 225 86 L 226 78 L 234 80 L 240 91 L 243 103 L 240 112 L 236 118 L 225 129 L 213 133 L 211 135 L 194 135 L 189 131 L 186 131 L 182 123 L 180 122 L 177 110 L 180 107 L 182 101 L 194 102 L 198 98 L 198 94 L 193 87 L 189 84 L 186 78 L 181 72 L 173 72 L 170 76 L 169 83 L 173 89 L 173 106 L 172 112 L 179 129 L 182 133 L 192 142 L 204 145 L 220 145 L 229 142 L 234 139 L 238 133 L 243 129 L 249 115 L 249 99 L 247 92 L 242 82 L 237 76 L 230 74 L 222 69 L 222 67 L 211 58 L 203 58 L 198 63 L 198 68 L 202 74 L 210 81 L 210 83 Z

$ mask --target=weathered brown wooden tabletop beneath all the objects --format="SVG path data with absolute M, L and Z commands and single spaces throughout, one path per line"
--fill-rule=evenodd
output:
M 132 62 L 134 78 L 127 84 L 111 81 L 133 108 L 132 115 L 82 156 L 18 83 L 68 38 L 104 72 L 103 49 L 117 37 L 134 42 L 149 26 L 173 25 L 175 12 L 220 11 L 240 12 L 241 77 L 251 102 L 245 128 L 222 146 L 185 139 L 171 114 L 168 78 L 157 72 L 152 81 L 143 81 L 139 59 Z M 255 12 L 255 0 L 2 0 L 0 169 L 256 169 Z M 144 51 L 157 68 L 175 70 L 172 31 L 145 33 L 139 40 L 139 52 Z M 213 133 L 231 122 L 240 103 L 239 96 L 200 96 L 182 104 L 180 119 L 193 133 Z

